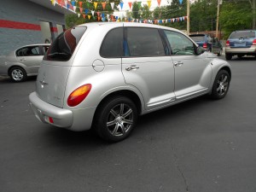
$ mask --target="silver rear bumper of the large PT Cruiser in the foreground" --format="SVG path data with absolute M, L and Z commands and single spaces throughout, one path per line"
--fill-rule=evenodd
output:
M 41 100 L 36 92 L 29 95 L 29 101 L 32 112 L 41 122 L 72 131 L 89 130 L 96 110 L 58 108 Z

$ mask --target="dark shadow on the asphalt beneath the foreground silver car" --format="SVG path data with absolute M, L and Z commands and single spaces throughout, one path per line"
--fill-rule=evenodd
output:
M 211 101 L 212 99 L 208 96 L 201 96 L 169 108 L 163 108 L 158 111 L 139 116 L 137 127 L 132 132 L 131 136 L 120 143 L 131 143 L 131 141 L 129 141 L 130 139 L 136 140 L 138 137 L 143 137 L 145 135 L 143 131 L 147 132 L 147 126 L 154 124 L 156 119 L 158 122 L 166 121 L 167 119 L 182 119 L 184 113 L 195 111 L 196 108 L 201 108 L 201 106 L 205 106 L 207 102 L 211 103 Z M 70 148 L 70 146 L 73 146 L 73 149 L 78 151 L 84 148 L 98 148 L 117 144 L 104 141 L 102 138 L 98 137 L 96 132 L 93 130 L 75 132 L 56 128 L 51 125 L 44 125 L 43 134 L 47 143 L 52 143 L 60 148 Z

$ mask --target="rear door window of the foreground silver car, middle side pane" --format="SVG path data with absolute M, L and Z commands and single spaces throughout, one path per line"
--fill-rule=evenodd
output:
M 140 57 L 166 55 L 158 29 L 127 27 L 126 30 L 127 39 L 125 39 L 124 48 L 127 46 L 129 51 L 125 51 L 125 56 Z

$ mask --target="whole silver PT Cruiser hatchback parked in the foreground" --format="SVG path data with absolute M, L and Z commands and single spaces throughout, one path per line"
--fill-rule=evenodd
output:
M 128 137 L 137 116 L 209 94 L 226 96 L 230 64 L 177 29 L 88 23 L 55 39 L 29 96 L 36 117 L 108 141 Z

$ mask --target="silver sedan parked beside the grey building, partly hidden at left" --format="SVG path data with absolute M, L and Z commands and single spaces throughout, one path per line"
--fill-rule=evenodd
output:
M 49 44 L 30 44 L 1 57 L 0 75 L 9 75 L 14 82 L 38 75 L 38 69 Z

